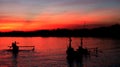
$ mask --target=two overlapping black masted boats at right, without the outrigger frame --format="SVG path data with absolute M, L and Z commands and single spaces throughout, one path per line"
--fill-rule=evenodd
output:
M 72 39 L 71 37 L 69 38 L 69 46 L 67 47 L 66 54 L 67 54 L 67 59 L 73 60 L 73 59 L 78 59 L 81 56 L 87 56 L 90 55 L 90 52 L 88 51 L 87 48 L 83 48 L 83 39 L 81 38 L 81 45 L 79 48 L 75 51 L 74 48 L 71 46 Z

